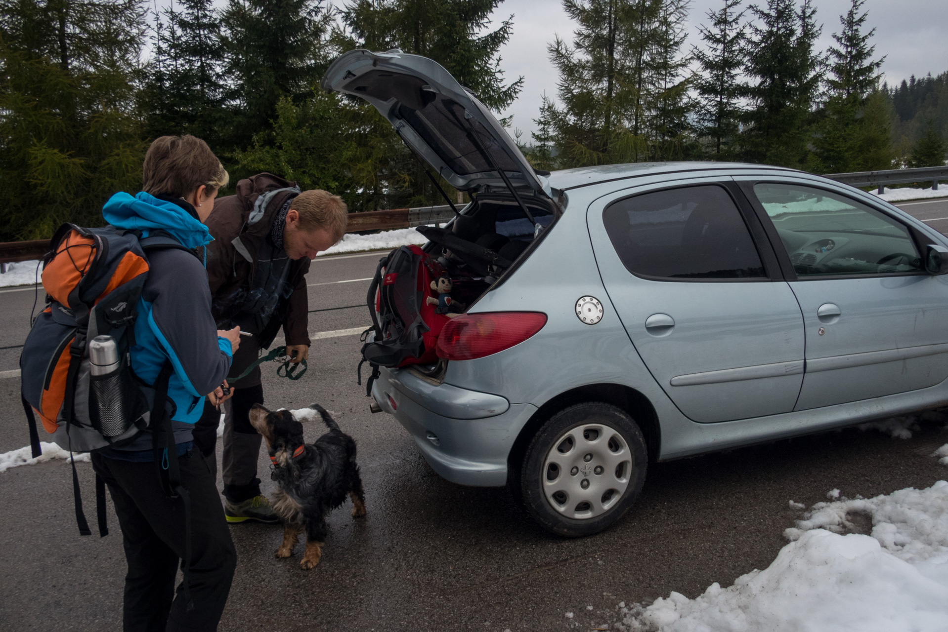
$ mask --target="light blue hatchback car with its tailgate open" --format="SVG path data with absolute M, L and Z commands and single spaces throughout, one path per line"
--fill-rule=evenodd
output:
M 629 510 L 649 460 L 948 404 L 948 241 L 902 210 L 759 165 L 536 172 L 475 95 L 398 50 L 346 53 L 323 86 L 473 200 L 443 232 L 482 250 L 437 231 L 425 249 L 485 269 L 478 297 L 437 364 L 372 388 L 445 479 L 509 485 L 584 535 Z

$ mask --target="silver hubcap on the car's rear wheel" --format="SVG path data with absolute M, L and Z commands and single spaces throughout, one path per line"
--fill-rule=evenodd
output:
M 629 487 L 632 456 L 619 431 L 582 424 L 553 443 L 543 461 L 543 495 L 557 513 L 584 520 L 615 506 Z

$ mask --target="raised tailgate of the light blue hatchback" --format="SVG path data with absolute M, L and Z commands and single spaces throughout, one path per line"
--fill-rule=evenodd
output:
M 500 169 L 515 188 L 553 197 L 497 118 L 439 63 L 398 49 L 351 50 L 329 66 L 322 87 L 372 103 L 455 189 L 504 187 Z

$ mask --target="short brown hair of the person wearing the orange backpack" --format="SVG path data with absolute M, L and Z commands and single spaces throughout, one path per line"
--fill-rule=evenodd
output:
M 192 135 L 160 136 L 145 153 L 142 190 L 152 195 L 184 197 L 204 185 L 210 190 L 228 186 L 230 176 L 208 143 Z

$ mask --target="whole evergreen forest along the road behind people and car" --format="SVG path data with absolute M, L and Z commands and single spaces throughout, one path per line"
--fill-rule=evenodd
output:
M 556 94 L 529 138 L 537 169 L 738 160 L 810 172 L 942 165 L 948 72 L 882 81 L 865 0 L 563 0 L 569 39 L 547 50 Z M 502 69 L 516 27 L 501 0 L 0 0 L 0 241 L 101 224 L 140 186 L 159 135 L 204 138 L 231 183 L 275 172 L 338 193 L 351 211 L 441 204 L 391 125 L 319 89 L 352 48 L 400 48 L 444 65 L 499 116 L 523 78 Z M 829 50 L 816 49 L 826 28 Z M 552 88 L 552 86 L 551 86 Z M 517 121 L 514 121 L 516 123 Z M 506 121 L 510 124 L 510 121 Z M 447 183 L 442 185 L 452 193 Z M 232 192 L 222 191 L 222 194 Z

